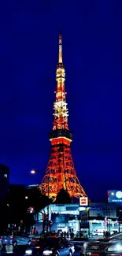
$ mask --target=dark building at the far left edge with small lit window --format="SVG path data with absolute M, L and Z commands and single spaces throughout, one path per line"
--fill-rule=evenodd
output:
M 9 191 L 9 167 L 0 164 L 0 202 L 6 198 Z

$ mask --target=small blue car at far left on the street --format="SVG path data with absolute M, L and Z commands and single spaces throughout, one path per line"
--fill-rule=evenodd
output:
M 22 232 L 6 232 L 2 236 L 2 245 L 6 246 L 6 244 L 12 244 L 13 247 L 17 247 L 19 244 L 30 245 L 31 238 Z

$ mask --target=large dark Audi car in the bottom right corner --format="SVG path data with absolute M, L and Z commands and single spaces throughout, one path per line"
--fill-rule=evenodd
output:
M 114 248 L 116 249 L 115 252 Z M 80 256 L 101 256 L 103 254 L 104 256 L 110 256 L 112 254 L 114 256 L 114 254 L 120 254 L 120 248 L 122 254 L 122 232 L 114 233 L 113 235 L 104 239 L 96 239 L 83 243 L 83 247 L 80 251 Z

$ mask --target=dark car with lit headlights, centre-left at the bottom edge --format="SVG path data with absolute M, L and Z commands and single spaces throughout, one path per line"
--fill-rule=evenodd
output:
M 72 256 L 75 252 L 75 247 L 69 243 L 67 239 L 59 236 L 49 236 L 40 239 L 33 247 L 28 247 L 25 250 L 25 255 L 54 255 L 54 256 Z

